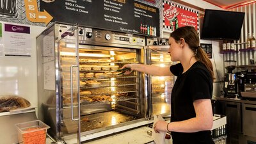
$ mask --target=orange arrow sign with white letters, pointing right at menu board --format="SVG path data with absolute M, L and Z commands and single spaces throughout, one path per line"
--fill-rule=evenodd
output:
M 24 0 L 26 16 L 27 19 L 31 22 L 44 22 L 48 24 L 52 20 L 52 16 L 44 12 L 38 12 L 37 1 L 36 0 Z

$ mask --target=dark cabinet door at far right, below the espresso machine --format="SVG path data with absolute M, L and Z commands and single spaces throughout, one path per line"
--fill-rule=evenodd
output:
M 256 105 L 243 104 L 244 135 L 256 137 Z

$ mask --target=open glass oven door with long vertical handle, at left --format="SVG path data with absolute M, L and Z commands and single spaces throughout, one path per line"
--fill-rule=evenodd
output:
M 72 134 L 80 143 L 79 53 L 76 26 L 69 26 L 58 39 L 60 58 L 60 115 L 62 137 Z M 78 143 L 78 142 L 77 142 Z

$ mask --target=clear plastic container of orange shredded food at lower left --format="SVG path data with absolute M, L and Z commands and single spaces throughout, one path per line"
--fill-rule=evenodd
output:
M 40 120 L 16 124 L 19 143 L 45 144 L 46 132 L 50 127 Z

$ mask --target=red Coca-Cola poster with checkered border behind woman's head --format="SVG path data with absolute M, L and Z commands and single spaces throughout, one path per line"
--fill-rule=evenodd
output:
M 174 31 L 182 26 L 193 26 L 198 31 L 198 13 L 181 4 L 163 0 L 163 29 Z

